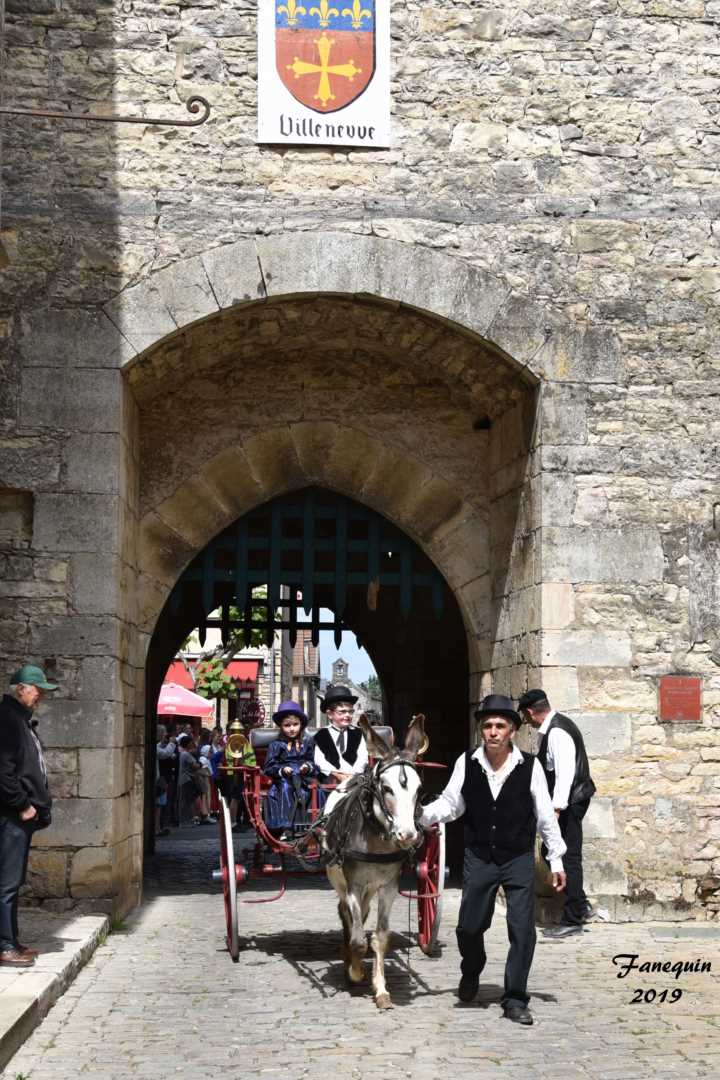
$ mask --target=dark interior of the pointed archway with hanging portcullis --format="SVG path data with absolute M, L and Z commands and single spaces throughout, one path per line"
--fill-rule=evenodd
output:
M 264 600 L 253 600 L 258 586 Z M 250 624 L 252 606 L 261 620 Z M 331 615 L 328 621 L 328 612 Z M 146 670 L 147 746 L 154 746 L 157 703 L 165 672 L 193 629 L 250 640 L 263 624 L 268 645 L 291 650 L 308 630 L 336 643 L 362 642 L 378 673 L 385 723 L 397 740 L 416 712 L 426 715 L 429 757 L 447 767 L 467 743 L 467 639 L 458 603 L 432 561 L 402 529 L 362 503 L 316 486 L 270 500 L 223 529 L 190 562 L 155 626 Z M 217 636 L 217 635 L 216 635 Z M 325 676 L 329 673 L 323 673 Z M 289 686 L 283 676 L 270 708 Z M 274 700 L 277 699 L 277 700 Z M 426 770 L 429 791 L 449 772 Z M 154 848 L 154 755 L 148 754 L 146 850 Z

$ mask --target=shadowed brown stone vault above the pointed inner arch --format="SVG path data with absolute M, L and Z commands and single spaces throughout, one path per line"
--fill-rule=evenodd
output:
M 145 633 L 217 532 L 314 484 L 379 510 L 423 548 L 457 597 L 479 679 L 490 665 L 494 474 L 527 463 L 527 372 L 425 312 L 334 294 L 208 316 L 126 378 L 138 406 Z

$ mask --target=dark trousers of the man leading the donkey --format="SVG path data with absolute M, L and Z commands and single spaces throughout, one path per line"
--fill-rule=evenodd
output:
M 487 959 L 485 932 L 492 922 L 500 886 L 507 902 L 510 950 L 505 963 L 503 1007 L 527 1005 L 528 975 L 535 951 L 534 852 L 498 865 L 486 863 L 465 849 L 462 903 L 458 919 L 458 947 L 463 975 L 479 975 Z

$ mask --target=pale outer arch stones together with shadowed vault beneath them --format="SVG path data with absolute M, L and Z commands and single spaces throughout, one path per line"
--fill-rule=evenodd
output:
M 611 338 L 450 256 L 332 233 L 217 248 L 105 311 L 137 406 L 144 634 L 217 531 L 317 483 L 418 540 L 456 592 L 477 677 L 492 666 L 491 593 L 512 591 L 520 517 L 518 578 L 534 580 L 535 388 L 611 378 Z M 515 662 L 507 650 L 500 659 Z

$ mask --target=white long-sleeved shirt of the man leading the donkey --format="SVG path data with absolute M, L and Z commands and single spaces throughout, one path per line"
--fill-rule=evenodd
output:
M 502 786 L 510 777 L 511 772 L 522 761 L 522 755 L 517 746 L 513 746 L 510 757 L 497 772 L 488 761 L 484 746 L 477 747 L 473 754 L 473 760 L 479 761 L 483 767 L 490 785 L 490 794 L 493 799 L 497 800 Z M 465 800 L 462 797 L 462 785 L 464 782 L 465 755 L 461 754 L 454 764 L 452 775 L 450 777 L 450 781 L 443 794 L 438 795 L 438 797 L 426 807 L 423 807 L 423 825 L 434 825 L 436 822 L 456 821 L 458 818 L 462 818 L 465 812 Z M 551 864 L 551 869 L 553 873 L 561 872 L 562 855 L 568 849 L 565 840 L 560 836 L 560 827 L 557 823 L 555 811 L 553 810 L 553 804 L 551 801 L 549 792 L 547 791 L 547 781 L 545 780 L 543 767 L 536 758 L 532 762 L 532 773 L 530 775 L 530 796 L 535 809 L 535 816 L 538 818 L 538 832 L 542 836 L 543 842 L 547 848 L 547 859 Z

